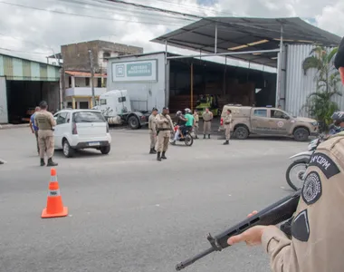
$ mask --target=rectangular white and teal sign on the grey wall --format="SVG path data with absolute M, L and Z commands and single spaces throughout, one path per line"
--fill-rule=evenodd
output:
M 112 82 L 157 82 L 158 60 L 112 63 Z

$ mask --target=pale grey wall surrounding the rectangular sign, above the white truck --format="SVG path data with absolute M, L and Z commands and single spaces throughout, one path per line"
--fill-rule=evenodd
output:
M 112 64 L 139 62 L 144 60 L 158 60 L 158 81 L 157 82 L 113 82 Z M 109 60 L 107 91 L 127 90 L 134 109 L 151 110 L 157 107 L 159 111 L 165 106 L 165 53 L 152 53 L 141 56 L 126 56 Z M 167 92 L 168 97 L 168 92 Z M 147 101 L 147 103 L 146 103 Z M 139 107 L 139 108 L 138 108 Z

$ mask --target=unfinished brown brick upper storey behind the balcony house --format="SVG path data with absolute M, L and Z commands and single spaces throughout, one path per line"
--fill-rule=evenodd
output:
M 110 54 L 139 54 L 143 53 L 143 48 L 125 44 L 114 44 L 105 41 L 91 41 L 80 44 L 66 44 L 61 46 L 63 66 L 65 70 L 89 71 L 91 67 L 89 50 L 93 53 L 93 63 L 96 73 L 101 73 L 100 68 L 104 63 L 100 59 L 101 52 Z

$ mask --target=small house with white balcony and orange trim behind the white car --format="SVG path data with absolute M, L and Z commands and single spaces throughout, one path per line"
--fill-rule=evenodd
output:
M 92 84 L 96 100 L 101 93 L 106 92 L 106 73 L 94 73 L 93 82 L 91 73 L 78 71 L 65 71 L 64 92 L 65 107 L 72 109 L 91 109 L 92 104 Z

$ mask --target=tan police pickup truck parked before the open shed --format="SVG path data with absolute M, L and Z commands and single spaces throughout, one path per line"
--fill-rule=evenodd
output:
M 254 108 L 238 105 L 225 105 L 218 131 L 224 131 L 224 117 L 232 111 L 232 133 L 234 138 L 244 140 L 251 134 L 264 136 L 292 137 L 295 141 L 308 141 L 310 136 L 319 134 L 318 121 L 295 117 L 276 108 Z

